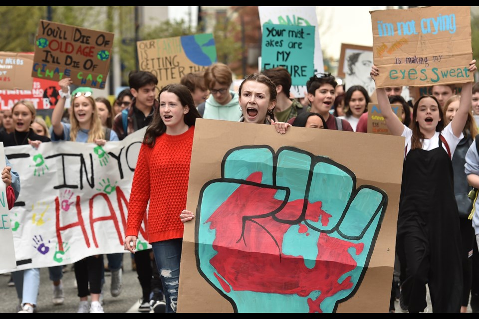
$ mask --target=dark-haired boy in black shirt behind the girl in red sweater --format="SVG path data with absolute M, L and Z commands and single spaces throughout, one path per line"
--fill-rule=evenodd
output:
M 128 85 L 133 95 L 129 108 L 126 108 L 115 116 L 113 131 L 118 138 L 123 140 L 128 134 L 138 131 L 150 125 L 153 118 L 154 108 L 158 108 L 156 100 L 156 85 L 158 79 L 151 72 L 130 72 Z M 125 112 L 126 114 L 122 114 Z M 126 118 L 125 118 L 126 117 Z

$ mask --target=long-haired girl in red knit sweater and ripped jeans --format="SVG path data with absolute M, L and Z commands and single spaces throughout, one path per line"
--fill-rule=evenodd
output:
M 183 223 L 178 212 L 186 206 L 194 125 L 201 118 L 188 88 L 165 86 L 159 112 L 148 127 L 133 176 L 125 250 L 135 253 L 138 231 L 146 216 L 148 242 L 153 248 L 166 298 L 166 312 L 177 308 Z

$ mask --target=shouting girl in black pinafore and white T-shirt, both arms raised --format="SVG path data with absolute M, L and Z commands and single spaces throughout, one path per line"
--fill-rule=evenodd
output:
M 410 313 L 427 307 L 426 284 L 434 313 L 461 309 L 461 234 L 451 159 L 471 107 L 476 60 L 468 70 L 465 80 L 471 82 L 463 84 L 459 110 L 446 127 L 435 97 L 422 96 L 414 104 L 410 129 L 393 113 L 384 88 L 377 89 L 388 129 L 406 138 L 396 249 L 406 270 L 401 289 Z M 371 77 L 378 74 L 373 66 Z

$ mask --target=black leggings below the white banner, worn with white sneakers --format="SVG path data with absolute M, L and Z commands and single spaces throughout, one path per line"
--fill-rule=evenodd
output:
M 89 256 L 75 263 L 75 278 L 78 285 L 78 297 L 87 297 L 101 293 L 103 255 Z M 88 286 L 90 289 L 88 289 Z

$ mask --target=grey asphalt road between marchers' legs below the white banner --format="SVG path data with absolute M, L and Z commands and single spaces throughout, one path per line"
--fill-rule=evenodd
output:
M 105 258 L 106 262 L 106 258 Z M 77 289 L 74 287 L 75 274 L 68 265 L 67 272 L 63 273 L 63 293 L 65 302 L 63 305 L 54 306 L 51 299 L 53 296 L 52 283 L 48 278 L 48 269 L 40 269 L 40 290 L 38 295 L 38 313 L 76 313 L 79 298 Z M 10 276 L 0 275 L 0 313 L 16 313 L 18 298 L 15 287 L 8 287 Z M 136 271 L 131 268 L 130 253 L 123 256 L 123 287 L 120 296 L 114 298 L 110 294 L 111 277 L 105 277 L 103 310 L 105 313 L 139 313 L 138 299 L 141 298 L 141 287 Z

